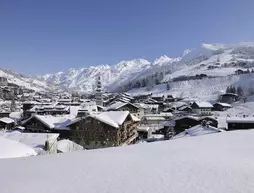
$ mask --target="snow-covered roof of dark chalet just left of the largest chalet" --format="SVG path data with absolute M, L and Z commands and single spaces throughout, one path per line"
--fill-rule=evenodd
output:
M 52 116 L 52 115 L 33 115 L 29 119 L 25 120 L 22 124 L 24 125 L 31 119 L 37 119 L 44 123 L 50 129 L 64 129 L 66 126 L 75 118 L 72 115 L 63 116 Z

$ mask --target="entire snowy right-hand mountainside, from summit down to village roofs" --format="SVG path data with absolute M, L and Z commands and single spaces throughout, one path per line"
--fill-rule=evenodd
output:
M 131 94 L 171 94 L 195 100 L 214 101 L 230 85 L 254 89 L 254 43 L 236 45 L 202 44 L 185 52 L 182 59 L 168 67 L 170 73 L 151 89 L 136 88 Z M 243 74 L 236 74 L 237 70 Z M 197 78 L 200 74 L 205 77 Z

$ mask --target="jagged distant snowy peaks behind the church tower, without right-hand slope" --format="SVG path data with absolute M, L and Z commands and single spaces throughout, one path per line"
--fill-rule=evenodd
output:
M 154 69 L 177 63 L 181 58 L 169 58 L 166 55 L 149 62 L 145 59 L 134 59 L 121 61 L 115 65 L 90 66 L 80 69 L 69 69 L 66 72 L 46 74 L 39 78 L 44 81 L 53 82 L 63 87 L 78 91 L 93 91 L 95 79 L 101 76 L 103 86 L 114 88 L 127 83 L 140 75 L 149 75 Z

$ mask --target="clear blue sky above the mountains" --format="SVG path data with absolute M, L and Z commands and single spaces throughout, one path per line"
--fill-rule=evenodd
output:
M 0 67 L 44 74 L 254 41 L 254 0 L 0 0 Z

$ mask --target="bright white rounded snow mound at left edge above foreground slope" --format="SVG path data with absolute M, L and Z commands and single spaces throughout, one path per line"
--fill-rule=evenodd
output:
M 0 136 L 0 159 L 36 155 L 33 148 Z

